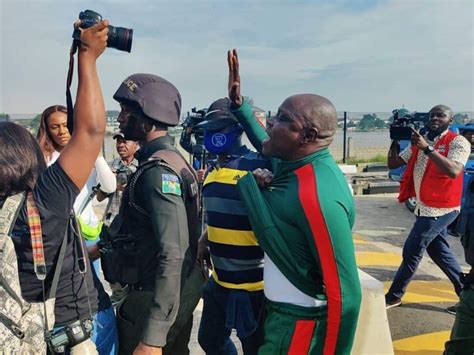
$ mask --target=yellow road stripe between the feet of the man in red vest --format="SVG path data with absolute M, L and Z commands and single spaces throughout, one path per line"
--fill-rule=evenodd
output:
M 392 284 L 384 282 L 385 292 Z M 402 303 L 433 303 L 433 302 L 458 302 L 459 298 L 454 292 L 449 281 L 418 281 L 410 282 L 407 292 L 402 298 Z

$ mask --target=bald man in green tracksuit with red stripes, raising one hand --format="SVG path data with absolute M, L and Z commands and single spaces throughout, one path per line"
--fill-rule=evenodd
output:
M 294 95 L 265 130 L 240 95 L 235 49 L 228 64 L 232 112 L 255 148 L 272 158 L 274 174 L 258 170 L 237 185 L 265 252 L 267 316 L 259 354 L 350 354 L 361 289 L 354 203 L 328 150 L 336 110 L 322 96 Z

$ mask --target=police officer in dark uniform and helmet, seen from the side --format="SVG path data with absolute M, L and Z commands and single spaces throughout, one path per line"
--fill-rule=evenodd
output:
M 130 289 L 117 311 L 119 353 L 188 354 L 204 279 L 195 266 L 195 173 L 167 133 L 178 124 L 181 96 L 161 77 L 134 74 L 114 99 L 121 106 L 121 133 L 141 146 L 138 170 L 106 237 L 114 247 L 102 259 L 106 279 Z

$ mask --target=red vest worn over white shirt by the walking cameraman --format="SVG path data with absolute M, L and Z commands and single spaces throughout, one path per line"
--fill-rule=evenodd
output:
M 448 131 L 436 142 L 435 150 L 446 157 L 449 153 L 449 144 L 456 137 L 456 133 Z M 444 146 L 444 150 L 440 151 L 439 148 L 441 146 Z M 413 170 L 418 158 L 418 151 L 419 149 L 416 146 L 411 147 L 411 158 L 400 182 L 400 194 L 398 195 L 398 201 L 400 202 L 404 202 L 410 197 L 416 197 Z M 452 179 L 439 170 L 431 159 L 428 159 L 426 170 L 421 180 L 419 199 L 429 207 L 458 207 L 461 205 L 462 181 L 462 173 Z

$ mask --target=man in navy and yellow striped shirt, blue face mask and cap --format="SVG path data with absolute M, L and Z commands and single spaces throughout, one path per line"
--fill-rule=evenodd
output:
M 237 181 L 269 161 L 242 145 L 242 127 L 229 111 L 230 100 L 215 101 L 200 127 L 206 149 L 217 156 L 207 170 L 202 197 L 206 229 L 198 262 L 207 260 L 212 277 L 203 290 L 198 340 L 206 354 L 237 354 L 230 333 L 237 330 L 245 354 L 263 341 L 263 251 L 250 227 Z M 209 260 L 209 251 L 210 260 Z

